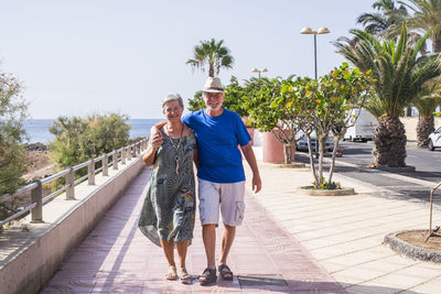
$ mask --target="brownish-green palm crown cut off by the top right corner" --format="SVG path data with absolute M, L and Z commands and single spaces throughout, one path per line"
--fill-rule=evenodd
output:
M 441 0 L 408 0 L 409 3 L 400 3 L 413 11 L 408 21 L 411 30 L 422 32 L 431 31 L 429 39 L 432 41 L 432 52 L 441 52 Z

